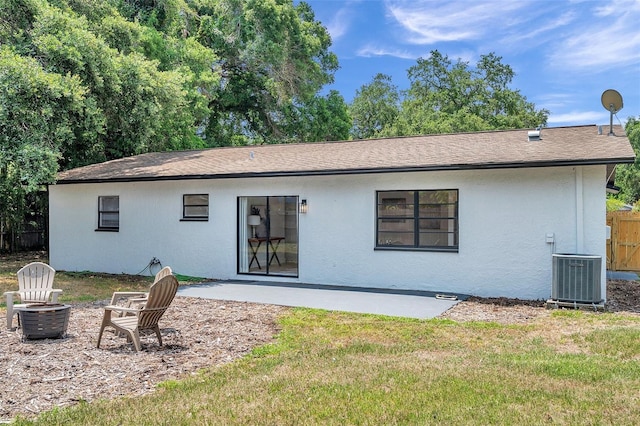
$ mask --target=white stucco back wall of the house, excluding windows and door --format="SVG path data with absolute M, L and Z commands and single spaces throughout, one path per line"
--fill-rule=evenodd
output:
M 459 252 L 374 250 L 377 190 L 457 189 Z M 551 254 L 602 256 L 605 166 L 247 178 L 50 187 L 50 262 L 137 273 L 153 257 L 180 274 L 237 274 L 237 197 L 297 195 L 299 277 L 280 281 L 546 299 Z M 181 222 L 182 195 L 208 193 L 207 222 Z M 119 232 L 96 232 L 99 195 L 120 197 Z M 581 226 L 579 226 L 581 225 Z M 553 233 L 555 244 L 546 242 Z

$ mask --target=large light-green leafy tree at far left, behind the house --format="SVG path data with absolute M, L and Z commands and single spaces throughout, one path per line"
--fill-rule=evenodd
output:
M 0 10 L 5 231 L 20 230 L 28 200 L 59 169 L 204 146 L 199 88 L 219 79 L 213 52 L 195 39 L 165 39 L 108 1 L 0 0 Z

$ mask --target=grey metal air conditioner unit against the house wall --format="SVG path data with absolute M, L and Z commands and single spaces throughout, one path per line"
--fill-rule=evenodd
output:
M 554 254 L 551 299 L 561 302 L 600 303 L 602 257 Z

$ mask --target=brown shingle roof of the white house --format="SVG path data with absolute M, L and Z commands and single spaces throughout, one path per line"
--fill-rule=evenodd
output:
M 591 126 L 154 152 L 80 167 L 58 183 L 382 173 L 633 162 L 623 130 Z

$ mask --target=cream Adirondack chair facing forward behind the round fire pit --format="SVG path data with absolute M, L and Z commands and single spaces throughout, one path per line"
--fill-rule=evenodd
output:
M 57 303 L 61 289 L 53 288 L 56 270 L 46 263 L 32 262 L 18 271 L 18 290 L 4 293 L 7 299 L 7 328 L 13 325 L 14 308 L 24 307 L 30 303 Z M 14 305 L 15 300 L 20 303 Z M 18 321 L 20 319 L 18 318 Z M 19 323 L 18 323 L 19 324 Z

